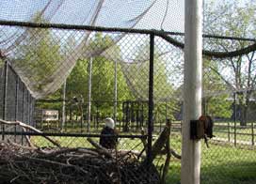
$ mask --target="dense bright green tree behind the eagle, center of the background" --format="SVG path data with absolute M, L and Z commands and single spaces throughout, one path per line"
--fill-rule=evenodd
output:
M 114 46 L 113 46 L 114 45 Z M 120 54 L 120 49 L 115 45 L 113 38 L 97 33 L 88 42 L 87 49 L 91 53 L 103 51 L 112 46 L 111 54 Z M 115 61 L 105 56 L 97 55 L 92 57 L 92 76 L 91 76 L 91 100 L 92 113 L 96 110 L 102 115 L 113 115 L 113 109 L 109 108 L 114 105 L 114 73 Z M 89 59 L 80 58 L 75 67 L 72 69 L 71 75 L 67 79 L 67 96 L 72 99 L 73 96 L 83 96 L 85 102 L 88 101 L 88 81 L 89 79 Z M 121 71 L 120 62 L 117 65 L 117 84 L 118 84 L 118 100 L 127 100 L 131 98 L 131 93 L 125 82 Z M 121 108 L 121 104 L 118 104 Z M 120 116 L 120 115 L 119 115 Z

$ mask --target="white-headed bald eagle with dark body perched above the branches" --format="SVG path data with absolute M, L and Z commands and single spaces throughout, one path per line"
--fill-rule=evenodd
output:
M 115 130 L 115 121 L 107 117 L 105 118 L 104 129 L 101 132 L 100 145 L 107 149 L 114 149 L 118 144 L 118 132 Z

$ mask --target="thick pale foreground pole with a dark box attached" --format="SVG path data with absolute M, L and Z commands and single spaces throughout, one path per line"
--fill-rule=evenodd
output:
M 200 184 L 200 140 L 190 140 L 190 121 L 201 115 L 202 0 L 185 0 L 182 184 Z

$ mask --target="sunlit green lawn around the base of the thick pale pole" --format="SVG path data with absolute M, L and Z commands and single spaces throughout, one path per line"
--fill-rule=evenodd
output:
M 179 147 L 180 135 L 171 136 L 171 146 Z M 181 145 L 180 145 L 181 146 Z M 172 159 L 168 175 L 169 184 L 180 183 L 181 163 Z M 256 147 L 243 149 L 201 142 L 201 184 L 253 184 L 256 183 Z

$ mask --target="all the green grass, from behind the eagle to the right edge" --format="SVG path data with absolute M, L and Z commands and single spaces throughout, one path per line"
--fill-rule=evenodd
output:
M 86 138 L 54 137 L 61 146 L 91 147 Z M 94 138 L 96 142 L 98 138 Z M 32 137 L 37 146 L 52 146 L 41 137 Z M 181 153 L 181 136 L 178 133 L 171 134 L 171 147 Z M 201 184 L 253 184 L 256 183 L 256 149 L 243 149 L 234 146 L 218 146 L 210 143 L 207 148 L 201 142 Z M 138 139 L 120 139 L 120 149 L 141 150 L 142 144 Z M 155 161 L 160 168 L 164 158 Z M 171 158 L 168 171 L 168 184 L 180 183 L 181 161 Z

